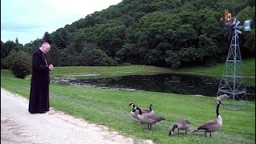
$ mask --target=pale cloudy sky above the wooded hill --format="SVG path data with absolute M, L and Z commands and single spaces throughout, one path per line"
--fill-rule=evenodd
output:
M 122 0 L 1 0 L 1 40 L 23 45 Z

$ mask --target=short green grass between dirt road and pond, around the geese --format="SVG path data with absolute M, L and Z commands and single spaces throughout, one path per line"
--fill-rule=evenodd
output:
M 122 68 L 122 66 L 118 68 L 116 70 L 107 68 L 107 72 L 112 74 L 115 72 L 122 74 L 126 70 L 134 72 L 134 70 Z M 56 71 L 52 71 L 51 76 L 62 73 L 78 74 L 74 67 L 60 69 L 62 72 L 56 72 L 58 68 L 55 68 Z M 138 73 L 139 70 L 138 68 Z M 81 70 L 79 74 L 91 72 L 84 71 L 85 69 Z M 9 70 L 1 70 L 1 87 L 29 98 L 30 80 L 14 78 Z M 128 107 L 130 102 L 138 104 L 141 108 L 147 108 L 150 103 L 153 103 L 154 114 L 162 116 L 166 120 L 152 126 L 152 130 L 147 130 L 146 125 L 141 125 L 130 115 L 131 108 Z M 222 129 L 213 133 L 212 138 L 205 138 L 204 134 L 192 134 L 192 131 L 203 122 L 216 118 L 214 98 L 50 84 L 50 106 L 53 106 L 54 109 L 104 125 L 110 130 L 117 130 L 121 134 L 135 139 L 151 139 L 155 143 L 254 143 L 255 102 L 248 102 L 248 104 L 248 108 L 236 111 L 226 110 L 221 106 Z M 169 137 L 170 127 L 178 118 L 190 120 L 190 132 L 177 134 L 177 130 L 175 130 L 174 135 Z

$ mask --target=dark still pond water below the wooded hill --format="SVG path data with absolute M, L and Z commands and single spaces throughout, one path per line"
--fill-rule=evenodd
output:
M 115 78 L 71 79 L 70 84 L 109 89 L 146 90 L 216 97 L 219 81 L 186 74 L 129 75 Z M 246 86 L 247 98 L 255 99 L 254 86 Z

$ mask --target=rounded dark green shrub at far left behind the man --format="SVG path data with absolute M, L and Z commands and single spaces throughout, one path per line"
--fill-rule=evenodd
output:
M 31 56 L 22 50 L 12 50 L 3 60 L 3 64 L 10 69 L 16 78 L 25 78 L 31 74 Z

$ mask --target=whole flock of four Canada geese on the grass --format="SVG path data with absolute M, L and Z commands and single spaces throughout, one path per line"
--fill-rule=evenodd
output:
M 204 132 L 205 137 L 206 137 L 206 133 L 210 133 L 210 137 L 211 137 L 211 133 L 218 131 L 222 127 L 222 117 L 218 112 L 218 108 L 219 108 L 220 104 L 222 104 L 222 103 L 220 100 L 218 100 L 217 106 L 216 106 L 217 118 L 207 121 L 207 122 L 203 123 L 201 126 L 198 126 L 198 128 L 196 130 L 194 130 L 193 133 L 194 132 Z M 151 130 L 151 126 L 154 125 L 154 123 L 161 122 L 162 120 L 165 120 L 165 118 L 162 118 L 162 117 L 154 114 L 154 110 L 152 110 L 152 107 L 153 107 L 152 104 L 150 104 L 150 110 L 140 109 L 134 103 L 130 103 L 129 106 L 133 106 L 132 110 L 130 111 L 130 114 L 134 118 L 138 119 L 141 122 L 141 124 L 147 124 L 147 127 L 149 130 Z M 173 135 L 175 129 L 178 129 L 178 133 L 179 133 L 179 130 L 185 130 L 185 133 L 186 133 L 186 131 L 189 128 L 190 128 L 189 120 L 187 120 L 186 118 L 180 118 L 175 122 L 174 126 L 169 131 L 169 135 L 170 136 Z

